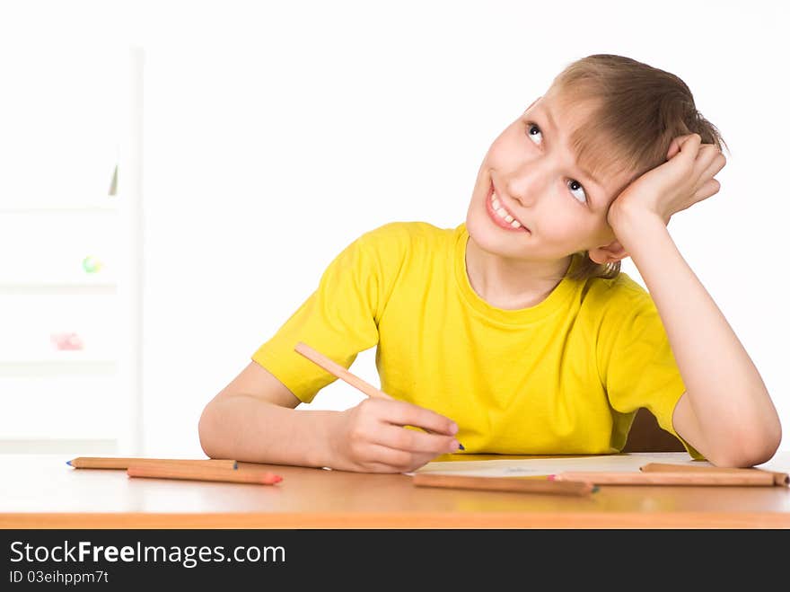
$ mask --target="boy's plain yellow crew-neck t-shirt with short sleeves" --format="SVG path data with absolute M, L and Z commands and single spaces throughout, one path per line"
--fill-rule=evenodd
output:
M 382 391 L 455 420 L 468 454 L 615 454 L 640 407 L 677 436 L 685 387 L 645 288 L 566 276 L 538 305 L 496 308 L 470 285 L 468 239 L 424 222 L 363 234 L 252 359 L 311 402 L 336 378 L 298 341 L 347 368 L 378 346 Z

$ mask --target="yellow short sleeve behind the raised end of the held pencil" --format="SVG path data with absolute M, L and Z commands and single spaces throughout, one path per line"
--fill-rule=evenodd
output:
M 343 367 L 378 343 L 382 301 L 379 263 L 363 234 L 329 263 L 317 289 L 252 359 L 302 402 L 337 378 L 294 351 L 303 341 Z

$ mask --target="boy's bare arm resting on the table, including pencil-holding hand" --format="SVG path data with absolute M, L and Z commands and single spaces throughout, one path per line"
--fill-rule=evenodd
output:
M 346 411 L 299 402 L 252 361 L 206 405 L 200 446 L 210 458 L 367 473 L 407 473 L 459 447 L 452 420 L 408 402 L 367 398 Z

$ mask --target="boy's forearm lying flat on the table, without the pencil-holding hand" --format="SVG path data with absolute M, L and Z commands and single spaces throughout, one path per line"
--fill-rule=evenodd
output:
M 215 399 L 200 418 L 200 444 L 212 458 L 328 466 L 328 424 L 338 411 L 296 411 L 245 394 Z

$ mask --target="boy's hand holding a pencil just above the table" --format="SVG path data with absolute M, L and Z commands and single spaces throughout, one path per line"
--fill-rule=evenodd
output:
M 406 429 L 414 426 L 432 433 Z M 329 428 L 332 462 L 340 471 L 408 473 L 458 450 L 450 419 L 408 402 L 364 399 L 338 414 Z

